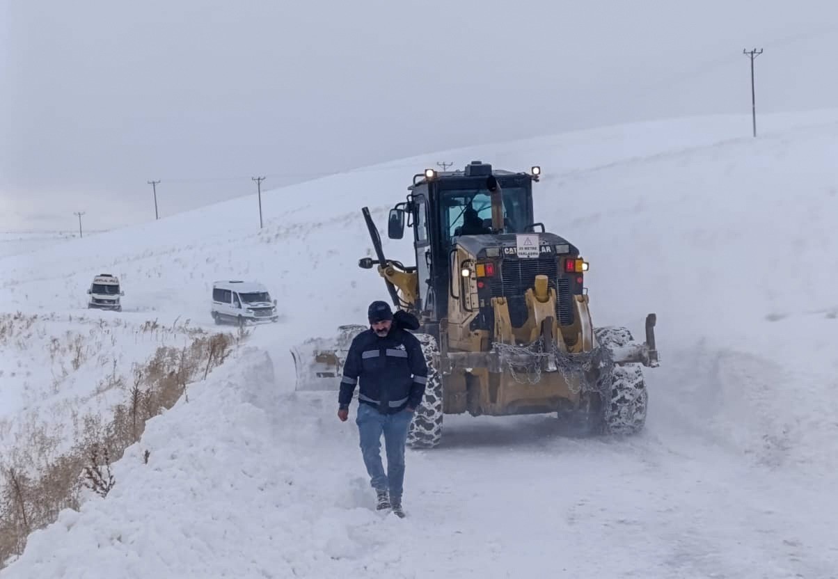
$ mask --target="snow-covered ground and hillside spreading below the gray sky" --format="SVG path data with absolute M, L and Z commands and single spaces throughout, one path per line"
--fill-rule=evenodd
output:
M 123 344 L 150 319 L 213 331 L 216 279 L 265 283 L 282 316 L 148 422 L 106 499 L 35 532 L 0 577 L 838 576 L 838 111 L 760 127 L 680 119 L 434 153 L 263 194 L 262 230 L 254 195 L 0 260 L 0 313 L 45 318 L 41 340 L 100 319 Z M 442 446 L 408 453 L 408 518 L 382 519 L 354 423 L 335 393 L 293 391 L 289 348 L 387 298 L 356 266 L 360 208 L 383 229 L 414 173 L 473 159 L 541 165 L 536 215 L 590 261 L 597 325 L 641 333 L 658 314 L 647 428 L 579 440 L 550 416 L 447 416 Z M 102 271 L 122 279 L 122 313 L 85 308 Z M 50 364 L 34 344 L 0 344 L 8 432 L 23 412 L 66 418 L 65 391 L 32 378 Z M 73 396 L 106 405 L 109 370 L 91 365 Z

